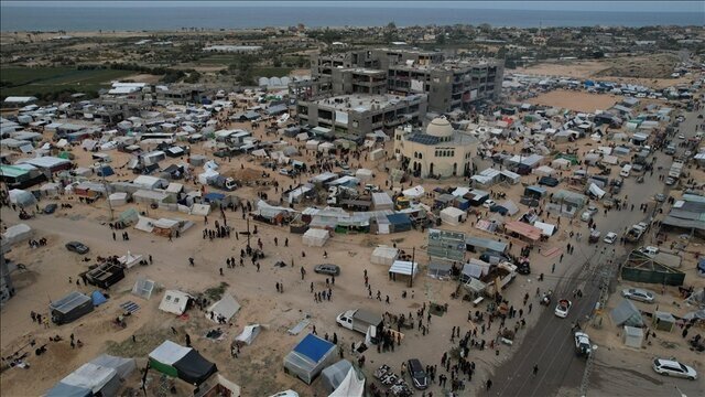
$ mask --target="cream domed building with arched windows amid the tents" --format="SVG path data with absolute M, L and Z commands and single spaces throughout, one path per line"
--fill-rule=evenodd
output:
M 394 131 L 394 154 L 416 178 L 469 175 L 477 147 L 477 138 L 456 131 L 444 117 L 431 120 L 425 130 L 406 126 Z

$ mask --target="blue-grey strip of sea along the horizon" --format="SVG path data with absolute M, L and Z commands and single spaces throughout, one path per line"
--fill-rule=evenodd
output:
M 634 4 L 638 4 L 634 2 Z M 42 6 L 0 2 L 0 30 L 21 31 L 174 31 L 181 29 L 248 29 L 294 26 L 303 23 L 321 26 L 397 26 L 452 25 L 488 23 L 492 26 L 649 26 L 703 25 L 697 12 L 606 12 L 606 11 L 539 11 L 489 10 L 444 7 L 414 7 L 400 2 L 398 7 L 316 7 L 243 6 L 238 3 L 191 4 L 167 7 L 101 7 L 86 4 L 64 7 L 61 1 Z

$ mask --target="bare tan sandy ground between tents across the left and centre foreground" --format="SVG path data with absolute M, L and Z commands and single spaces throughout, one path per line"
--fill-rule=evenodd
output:
M 592 95 L 588 95 L 593 97 Z M 586 109 L 587 110 L 587 109 Z M 246 127 L 249 124 L 232 124 L 232 128 Z M 261 139 L 272 139 L 263 135 L 263 124 L 256 130 L 256 136 Z M 583 142 L 585 143 L 585 142 Z M 573 144 L 574 146 L 574 144 Z M 388 143 L 387 150 L 391 151 Z M 518 150 L 518 146 L 502 147 L 501 149 Z M 589 148 L 585 148 L 587 151 Z M 204 153 L 199 147 L 192 147 L 193 152 Z M 80 165 L 91 163 L 89 153 L 83 152 L 80 149 L 74 149 L 77 155 L 76 162 Z M 583 152 L 583 151 L 582 151 Z M 133 174 L 127 170 L 120 169 L 127 160 L 128 155 L 110 152 L 113 158 L 112 165 L 118 174 L 110 176 L 109 180 L 132 180 Z M 311 161 L 310 157 L 296 157 L 296 159 Z M 180 159 L 172 159 L 166 163 L 178 162 Z M 238 171 L 241 165 L 261 170 L 261 167 L 248 158 L 236 158 L 232 162 L 219 161 L 223 171 Z M 384 173 L 381 172 L 386 162 L 379 161 L 371 163 L 368 161 L 360 162 L 362 167 L 376 170 L 375 183 L 384 185 Z M 166 164 L 163 164 L 164 167 Z M 351 161 L 351 167 L 358 165 L 357 161 Z M 392 167 L 392 163 L 388 165 Z M 479 169 L 486 168 L 488 164 L 481 164 Z M 270 180 L 278 180 L 284 187 L 295 183 L 284 175 L 271 173 Z M 306 175 L 307 178 L 307 175 Z M 533 181 L 534 175 L 524 176 L 525 182 Z M 416 184 L 419 181 L 412 181 Z M 423 185 L 427 191 L 435 186 L 453 186 L 464 184 L 462 180 L 444 180 L 444 181 L 424 181 Z M 411 185 L 411 184 L 410 184 Z M 511 187 L 496 186 L 495 190 L 502 189 L 507 192 L 508 197 L 518 202 L 521 195 L 522 186 L 516 185 Z M 270 186 L 246 186 L 235 192 L 236 195 L 253 200 L 257 192 L 265 192 L 270 197 L 278 196 Z M 432 198 L 423 200 L 427 204 L 432 204 Z M 264 244 L 264 253 L 267 257 L 261 261 L 261 270 L 258 272 L 256 267 L 246 262 L 243 267 L 236 269 L 227 269 L 225 260 L 227 257 L 239 256 L 239 250 L 246 245 L 245 238 L 236 239 L 216 239 L 209 242 L 202 238 L 200 230 L 204 227 L 204 219 L 184 214 L 169 213 L 163 211 L 154 211 L 145 205 L 126 205 L 115 208 L 116 214 L 135 207 L 144 211 L 151 217 L 178 217 L 188 218 L 196 223 L 196 226 L 187 230 L 181 238 L 173 243 L 165 238 L 148 235 L 133 228 L 129 228 L 129 242 L 122 242 L 119 236 L 113 242 L 111 232 L 107 227 L 109 221 L 109 211 L 105 201 L 99 201 L 94 205 L 79 204 L 76 198 L 63 197 L 63 202 L 74 205 L 70 210 L 58 210 L 54 215 L 40 215 L 37 218 L 28 223 L 35 229 L 34 238 L 46 237 L 48 245 L 37 249 L 30 249 L 26 244 L 19 244 L 8 255 L 8 257 L 17 262 L 26 265 L 28 271 L 17 272 L 15 282 L 18 294 L 7 305 L 2 308 L 0 336 L 2 341 L 2 356 L 8 356 L 15 351 L 26 351 L 29 340 L 35 340 L 39 344 L 47 344 L 48 352 L 43 356 L 31 355 L 28 360 L 32 365 L 31 369 L 12 368 L 2 373 L 0 376 L 0 387 L 3 394 L 9 396 L 37 395 L 50 388 L 54 383 L 67 375 L 70 371 L 80 364 L 93 358 L 99 353 L 109 352 L 124 356 L 134 356 L 139 358 L 141 365 L 144 364 L 147 354 L 159 345 L 164 339 L 172 339 L 177 343 L 184 344 L 185 333 L 192 336 L 193 344 L 207 358 L 216 362 L 220 373 L 232 382 L 242 386 L 243 396 L 265 396 L 272 393 L 293 388 L 302 395 L 323 395 L 319 382 L 315 382 L 312 387 L 305 386 L 297 379 L 284 375 L 282 371 L 282 360 L 284 355 L 303 337 L 300 335 L 290 335 L 286 330 L 294 326 L 306 315 L 311 316 L 312 325 L 316 326 L 318 335 L 333 336 L 337 334 L 339 345 L 344 346 L 346 358 L 350 358 L 350 352 L 347 346 L 351 342 L 360 341 L 362 335 L 351 331 L 341 330 L 336 326 L 335 315 L 347 309 L 365 307 L 377 312 L 389 311 L 391 313 L 410 313 L 414 318 L 415 312 L 424 303 L 430 302 L 448 303 L 448 312 L 442 318 L 434 316 L 431 323 L 431 331 L 427 335 L 422 335 L 417 330 L 406 331 L 405 339 L 394 353 L 378 354 L 375 350 L 365 353 L 367 358 L 366 371 L 368 378 L 371 378 L 371 372 L 382 363 L 387 363 L 398 368 L 402 361 L 410 357 L 419 357 L 424 364 L 437 364 L 444 351 L 449 348 L 449 331 L 452 326 L 458 325 L 463 328 L 463 332 L 471 326 L 467 322 L 467 311 L 474 310 L 467 302 L 451 299 L 451 293 L 455 290 L 455 283 L 448 281 L 438 281 L 425 276 L 419 277 L 413 288 L 409 288 L 403 281 L 390 281 L 387 277 L 387 267 L 370 264 L 370 255 L 373 247 L 378 244 L 398 244 L 405 250 L 416 247 L 416 260 L 422 265 L 424 275 L 424 266 L 429 258 L 424 254 L 426 235 L 417 230 L 412 230 L 392 235 L 336 235 L 325 247 L 304 247 L 301 237 L 288 233 L 283 227 L 258 224 L 259 233 L 254 236 L 253 244 L 261 238 Z M 41 205 L 45 205 L 48 201 L 43 201 Z M 304 206 L 299 205 L 297 210 Z M 2 208 L 2 224 L 11 225 L 19 223 L 17 214 L 9 208 Z M 227 212 L 226 217 L 228 225 L 236 230 L 245 230 L 246 224 L 242 221 L 241 213 Z M 219 219 L 218 214 L 209 216 L 209 226 L 215 219 Z M 444 225 L 444 229 L 462 230 L 477 236 L 491 236 L 485 232 L 480 232 L 470 225 L 476 219 L 470 216 L 468 222 L 458 226 Z M 551 221 L 549 221 L 551 222 Z M 251 225 L 257 223 L 251 223 Z M 577 226 L 577 225 L 576 225 Z M 542 248 L 547 250 L 553 247 L 562 247 L 565 242 L 565 233 L 572 229 L 572 226 L 562 228 L 564 234 L 552 237 L 547 243 L 542 244 Z M 274 237 L 279 238 L 279 246 L 273 244 Z M 494 238 L 508 240 L 502 236 L 491 236 Z M 282 247 L 283 240 L 289 238 L 289 247 Z M 86 243 L 91 251 L 87 257 L 107 255 L 124 255 L 128 250 L 132 254 L 152 255 L 154 265 L 148 267 L 137 266 L 127 272 L 126 280 L 113 286 L 109 291 L 111 299 L 107 304 L 96 309 L 80 320 L 62 325 L 52 325 L 48 330 L 32 323 L 30 311 L 34 310 L 46 314 L 47 303 L 51 299 L 57 299 L 63 294 L 73 290 L 90 292 L 94 288 L 85 286 L 76 287 L 76 275 L 87 268 L 93 261 L 82 261 L 82 257 L 73 253 L 68 253 L 63 245 L 68 240 L 78 239 Z M 517 255 L 522 244 L 512 240 L 513 254 Z M 324 258 L 324 251 L 327 251 L 328 258 Z M 302 256 L 305 253 L 305 257 Z M 476 255 L 474 255 L 476 256 Z M 195 258 L 195 267 L 187 265 L 187 258 Z M 467 255 L 469 257 L 469 254 Z M 286 264 L 294 264 L 285 268 L 278 268 L 273 265 L 282 260 Z M 326 288 L 325 277 L 315 275 L 313 267 L 319 262 L 333 262 L 341 267 L 340 277 L 336 278 L 335 286 L 332 287 L 333 300 L 330 302 L 315 303 L 310 292 L 311 283 L 314 283 L 315 291 L 322 291 Z M 544 257 L 542 255 L 532 255 L 532 269 L 535 273 L 547 272 L 549 267 L 555 258 Z M 307 270 L 305 280 L 301 280 L 301 267 Z M 219 276 L 218 269 L 224 268 L 225 275 Z M 372 291 L 381 291 L 382 299 L 387 294 L 390 297 L 390 304 L 368 299 L 367 291 L 364 286 L 362 273 L 368 270 Z M 560 269 L 558 272 L 568 269 Z M 163 293 L 155 292 L 153 297 L 147 301 L 130 293 L 132 285 L 138 278 L 149 278 L 156 281 L 165 289 L 181 289 L 189 293 L 204 292 L 208 288 L 214 288 L 220 282 L 228 283 L 228 292 L 234 294 L 241 303 L 242 309 L 234 318 L 232 324 L 227 325 L 226 336 L 224 341 L 212 341 L 204 335 L 208 330 L 217 328 L 205 319 L 204 314 L 197 309 L 188 312 L 186 320 L 177 319 L 165 312 L 158 310 L 159 302 Z M 276 293 L 274 283 L 282 282 L 284 293 Z M 545 288 L 550 287 L 550 282 Z M 533 291 L 535 288 L 535 279 L 533 276 L 518 276 L 518 279 L 506 290 L 506 297 L 510 301 L 518 301 L 521 297 Z M 410 297 L 402 299 L 403 291 L 408 291 Z M 110 321 L 119 312 L 119 304 L 132 301 L 138 303 L 141 309 L 128 319 L 128 328 L 120 330 L 115 328 Z M 478 310 L 484 310 L 482 307 Z M 534 321 L 532 315 L 528 315 L 528 322 Z M 252 346 L 242 348 L 239 358 L 229 356 L 229 341 L 237 335 L 242 326 L 249 323 L 260 323 L 265 325 L 265 331 L 260 334 Z M 177 330 L 177 334 L 171 333 L 171 326 Z M 304 333 L 310 332 L 312 328 L 307 328 Z M 72 350 L 68 346 L 68 335 L 74 333 L 77 339 L 82 340 L 85 345 L 82 348 Z M 58 343 L 48 342 L 48 336 L 59 334 L 64 341 Z M 137 343 L 132 342 L 131 336 L 135 335 Z M 521 340 L 521 331 L 519 341 Z M 518 341 L 518 342 L 519 342 Z M 495 355 L 491 351 L 473 351 L 473 360 L 478 364 L 478 374 L 480 380 L 487 377 L 487 374 L 501 361 L 510 360 L 512 347 L 500 346 L 499 355 Z M 156 375 L 152 373 L 152 385 L 156 384 Z M 137 387 L 138 378 L 134 377 L 127 387 Z M 477 382 L 468 387 L 477 387 Z M 441 389 L 432 386 L 434 394 Z

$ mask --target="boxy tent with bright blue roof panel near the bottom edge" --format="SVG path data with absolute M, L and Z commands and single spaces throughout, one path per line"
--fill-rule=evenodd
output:
M 311 385 L 323 368 L 335 360 L 336 352 L 337 346 L 333 343 L 307 334 L 284 357 L 284 372 Z

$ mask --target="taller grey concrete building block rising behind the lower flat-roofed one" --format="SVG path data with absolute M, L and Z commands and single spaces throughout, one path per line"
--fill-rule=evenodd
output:
M 503 71 L 499 60 L 445 60 L 441 52 L 405 49 L 350 51 L 312 60 L 313 78 L 327 84 L 332 95 L 426 94 L 429 110 L 440 114 L 499 98 Z M 292 95 L 301 98 L 295 92 Z

